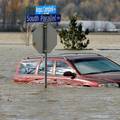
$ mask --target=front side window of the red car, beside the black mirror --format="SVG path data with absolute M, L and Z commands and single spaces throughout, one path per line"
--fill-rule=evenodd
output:
M 63 75 L 63 73 L 66 71 L 75 72 L 74 69 L 71 66 L 69 66 L 67 63 L 65 63 L 64 61 L 57 61 L 55 74 Z

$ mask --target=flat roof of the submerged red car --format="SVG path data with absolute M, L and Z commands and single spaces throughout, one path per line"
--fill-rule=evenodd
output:
M 39 60 L 44 58 L 44 55 L 38 57 L 27 57 L 24 60 Z M 60 54 L 48 54 L 48 58 L 62 58 L 68 60 L 75 60 L 75 59 L 89 59 L 89 58 L 103 58 L 102 55 L 96 53 L 60 53 Z

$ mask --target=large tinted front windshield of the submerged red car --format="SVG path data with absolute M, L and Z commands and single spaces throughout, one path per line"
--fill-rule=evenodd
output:
M 120 71 L 120 66 L 109 59 L 95 58 L 74 60 L 73 64 L 81 74 L 99 74 Z

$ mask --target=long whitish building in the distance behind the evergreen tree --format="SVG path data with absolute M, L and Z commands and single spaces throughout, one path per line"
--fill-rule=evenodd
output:
M 61 21 L 56 29 L 60 30 L 61 28 L 68 28 L 70 21 Z M 77 24 L 82 24 L 83 31 L 88 29 L 92 32 L 115 32 L 116 26 L 110 21 L 82 21 L 78 20 Z

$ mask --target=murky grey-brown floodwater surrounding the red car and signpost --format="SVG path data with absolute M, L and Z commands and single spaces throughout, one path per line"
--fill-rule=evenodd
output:
M 90 52 L 120 63 L 120 50 Z M 0 46 L 0 120 L 120 120 L 119 88 L 45 89 L 44 85 L 14 83 L 16 63 L 38 55 L 31 46 Z

